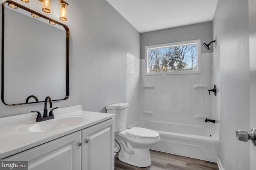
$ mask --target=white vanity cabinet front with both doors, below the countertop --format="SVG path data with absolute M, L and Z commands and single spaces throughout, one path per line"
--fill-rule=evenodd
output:
M 1 160 L 29 170 L 114 170 L 114 119 L 108 119 Z

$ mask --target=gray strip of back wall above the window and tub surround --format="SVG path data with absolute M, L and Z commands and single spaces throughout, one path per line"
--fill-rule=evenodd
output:
M 210 43 L 212 39 L 212 21 L 162 29 L 140 34 L 140 59 L 145 58 L 144 48 L 148 45 L 157 45 L 165 43 L 174 43 L 180 41 L 189 41 L 201 39 L 201 43 Z M 210 46 L 212 47 L 212 46 Z M 201 44 L 201 53 L 210 53 Z

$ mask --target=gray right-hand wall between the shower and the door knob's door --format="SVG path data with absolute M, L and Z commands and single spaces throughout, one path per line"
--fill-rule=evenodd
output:
M 249 129 L 250 122 L 248 0 L 218 1 L 213 37 L 214 63 L 220 63 L 220 162 L 225 170 L 249 170 L 249 143 L 236 139 L 236 130 Z

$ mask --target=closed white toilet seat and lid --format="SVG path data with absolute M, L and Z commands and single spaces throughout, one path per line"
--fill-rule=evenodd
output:
M 143 127 L 132 127 L 132 129 L 129 129 L 126 134 L 130 137 L 139 139 L 156 139 L 159 137 L 159 133 L 156 131 Z

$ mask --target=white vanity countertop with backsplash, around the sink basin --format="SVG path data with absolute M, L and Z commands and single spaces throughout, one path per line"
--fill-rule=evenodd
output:
M 36 122 L 36 113 L 2 117 L 0 118 L 0 159 L 90 127 L 115 116 L 110 113 L 82 111 L 81 105 L 55 109 L 54 115 L 55 118 L 79 115 L 87 117 L 88 120 L 80 123 L 79 125 L 65 129 L 46 132 L 30 132 L 28 130 L 24 130 L 25 128 L 22 127 L 24 127 L 24 125 L 42 123 Z M 54 119 L 46 121 L 53 120 Z

